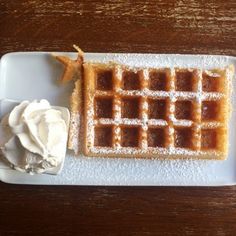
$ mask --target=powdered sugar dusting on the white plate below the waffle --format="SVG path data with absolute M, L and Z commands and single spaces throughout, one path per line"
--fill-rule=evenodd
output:
M 48 184 L 70 185 L 207 185 L 220 182 L 219 161 L 92 158 L 68 153 L 59 176 Z M 31 179 L 32 180 L 32 179 Z

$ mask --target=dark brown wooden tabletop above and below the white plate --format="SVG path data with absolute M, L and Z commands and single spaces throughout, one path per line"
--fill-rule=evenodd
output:
M 12 51 L 236 55 L 235 0 L 0 0 Z M 219 173 L 220 174 L 220 173 Z M 0 183 L 0 235 L 236 235 L 236 187 Z

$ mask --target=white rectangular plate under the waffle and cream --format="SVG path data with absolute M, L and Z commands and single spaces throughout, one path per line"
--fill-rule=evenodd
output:
M 76 53 L 58 52 L 76 58 Z M 177 54 L 86 53 L 85 60 L 116 61 L 130 66 L 200 67 L 209 69 L 229 64 L 229 56 Z M 69 107 L 73 83 L 61 86 L 63 67 L 49 52 L 17 52 L 0 61 L 0 119 L 12 107 L 11 100 L 47 99 L 54 106 Z M 233 89 L 235 89 L 235 79 Z M 232 94 L 232 106 L 236 106 Z M 10 169 L 0 161 L 0 180 L 15 184 L 46 185 L 133 185 L 133 186 L 223 186 L 236 184 L 236 111 L 232 109 L 229 154 L 226 161 L 145 160 L 92 158 L 67 152 L 59 175 L 29 175 Z M 1 138 L 1 137 L 0 137 Z M 1 158 L 0 158 L 1 159 Z

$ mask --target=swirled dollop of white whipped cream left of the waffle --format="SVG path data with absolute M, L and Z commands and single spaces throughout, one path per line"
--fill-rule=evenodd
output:
M 2 153 L 13 168 L 56 174 L 66 155 L 70 113 L 47 100 L 23 101 L 3 118 Z

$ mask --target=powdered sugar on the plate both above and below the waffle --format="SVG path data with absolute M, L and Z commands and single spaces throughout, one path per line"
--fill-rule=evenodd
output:
M 91 55 L 92 57 L 92 55 Z M 88 56 L 88 59 L 91 58 Z M 115 61 L 129 66 L 198 67 L 210 69 L 229 64 L 227 57 L 106 54 L 97 62 Z M 68 154 L 59 184 L 91 185 L 208 185 L 221 182 L 220 165 L 228 161 L 145 160 L 132 158 L 93 158 Z M 53 184 L 55 180 L 51 179 Z M 211 184 L 210 184 L 211 185 Z

